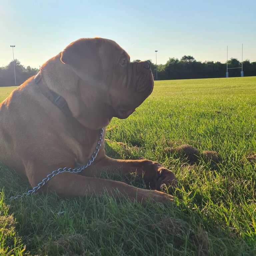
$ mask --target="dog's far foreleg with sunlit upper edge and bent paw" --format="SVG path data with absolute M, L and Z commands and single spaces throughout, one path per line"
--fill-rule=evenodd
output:
M 137 173 L 143 177 L 145 182 L 149 183 L 151 188 L 160 190 L 161 185 L 167 187 L 176 186 L 177 180 L 174 173 L 159 163 L 150 160 L 117 160 L 107 156 L 94 163 L 82 173 L 84 176 L 100 177 L 102 170 L 115 174 Z

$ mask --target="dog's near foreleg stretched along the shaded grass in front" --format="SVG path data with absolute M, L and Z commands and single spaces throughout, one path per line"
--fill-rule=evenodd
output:
M 36 186 L 37 182 L 39 181 L 31 182 L 30 179 L 32 187 Z M 128 197 L 132 201 L 137 201 L 143 205 L 149 199 L 153 202 L 162 203 L 168 203 L 173 200 L 171 195 L 159 191 L 140 189 L 119 181 L 85 177 L 75 173 L 60 173 L 47 182 L 41 190 L 43 192 L 56 192 L 60 197 L 102 196 L 107 193 L 117 199 Z

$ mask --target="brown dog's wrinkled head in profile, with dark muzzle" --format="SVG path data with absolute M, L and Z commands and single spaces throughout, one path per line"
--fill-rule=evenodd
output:
M 109 39 L 79 39 L 63 50 L 61 61 L 94 86 L 112 117 L 127 118 L 153 90 L 149 62 L 130 62 L 130 56 Z

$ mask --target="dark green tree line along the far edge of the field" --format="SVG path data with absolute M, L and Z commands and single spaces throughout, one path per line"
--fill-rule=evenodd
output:
M 140 61 L 140 60 L 136 60 Z M 148 60 L 152 69 L 154 78 L 156 79 L 156 64 Z M 39 69 L 26 68 L 21 65 L 20 61 L 15 59 L 7 66 L 0 67 L 0 86 L 14 86 L 14 65 L 16 73 L 17 86 L 22 84 L 29 77 L 38 73 Z M 228 60 L 229 68 L 241 67 L 242 63 L 231 58 Z M 217 78 L 226 76 L 227 63 L 219 61 L 196 61 L 193 56 L 184 55 L 180 60 L 177 58 L 169 58 L 166 64 L 157 65 L 157 78 L 158 80 L 171 80 L 171 79 L 194 79 L 194 78 Z M 256 76 L 256 62 L 245 60 L 243 62 L 244 76 Z M 241 69 L 229 69 L 229 77 L 241 76 Z

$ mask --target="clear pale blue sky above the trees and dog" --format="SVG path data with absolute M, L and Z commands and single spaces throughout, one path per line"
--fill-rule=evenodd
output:
M 116 41 L 135 59 L 256 61 L 256 0 L 0 0 L 0 66 L 39 67 L 81 37 Z

